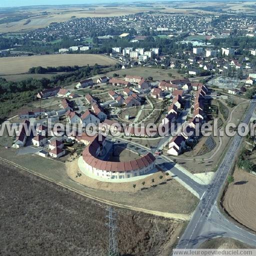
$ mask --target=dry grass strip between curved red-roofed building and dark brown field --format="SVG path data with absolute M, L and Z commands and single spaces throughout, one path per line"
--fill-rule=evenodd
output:
M 198 202 L 198 199 L 179 183 L 177 183 L 177 186 L 173 183 L 166 183 L 164 185 L 132 193 L 114 193 L 81 186 L 67 176 L 65 164 L 60 161 L 43 158 L 33 154 L 16 155 L 15 149 L 4 149 L 3 146 L 0 147 L 0 156 L 33 170 L 38 174 L 42 174 L 65 185 L 79 189 L 83 193 L 119 204 L 145 208 L 153 211 L 190 214 Z M 74 168 L 76 170 L 76 167 Z M 134 198 L 136 199 L 134 200 Z M 176 200 L 176 198 L 179 198 L 179 200 Z M 172 203 L 166 203 L 168 201 L 171 201 Z

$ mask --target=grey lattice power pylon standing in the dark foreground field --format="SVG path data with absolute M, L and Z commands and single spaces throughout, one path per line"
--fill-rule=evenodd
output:
M 108 222 L 106 225 L 108 226 L 108 256 L 119 256 L 118 253 L 118 245 L 116 239 L 116 214 L 111 206 L 107 208 L 108 215 Z

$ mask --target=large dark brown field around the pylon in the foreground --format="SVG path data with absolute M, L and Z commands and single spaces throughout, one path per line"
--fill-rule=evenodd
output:
M 3 163 L 0 172 L 1 255 L 107 254 L 105 204 Z M 185 224 L 122 208 L 114 210 L 121 255 L 167 256 Z

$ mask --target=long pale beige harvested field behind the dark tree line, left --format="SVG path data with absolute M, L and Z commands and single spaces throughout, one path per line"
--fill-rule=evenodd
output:
M 0 58 L 0 75 L 26 73 L 32 66 L 110 65 L 117 61 L 99 54 L 51 54 Z

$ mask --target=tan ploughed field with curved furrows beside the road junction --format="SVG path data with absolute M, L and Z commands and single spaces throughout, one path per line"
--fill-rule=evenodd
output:
M 224 194 L 223 206 L 234 219 L 256 231 L 256 176 L 237 168 L 233 176 L 234 182 Z

